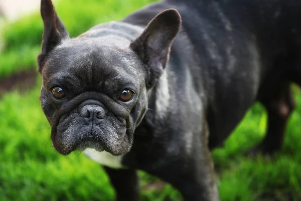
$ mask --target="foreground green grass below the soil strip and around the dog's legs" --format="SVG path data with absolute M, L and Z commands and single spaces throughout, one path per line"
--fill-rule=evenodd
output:
M 40 81 L 39 81 L 40 83 Z M 301 105 L 301 92 L 295 92 Z M 301 108 L 289 121 L 283 149 L 273 158 L 245 157 L 264 134 L 266 114 L 256 104 L 213 158 L 221 199 L 300 200 Z M 101 166 L 80 152 L 59 155 L 39 104 L 39 86 L 0 100 L 0 200 L 112 200 L 114 191 Z M 140 172 L 141 186 L 158 179 Z M 170 185 L 143 190 L 141 200 L 181 200 Z M 291 199 L 288 199 L 291 198 Z

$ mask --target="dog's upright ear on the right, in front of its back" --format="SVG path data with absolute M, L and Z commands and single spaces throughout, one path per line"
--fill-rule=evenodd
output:
M 165 10 L 150 21 L 142 34 L 130 44 L 130 48 L 147 66 L 147 87 L 152 87 L 163 73 L 180 27 L 179 12 L 175 9 Z

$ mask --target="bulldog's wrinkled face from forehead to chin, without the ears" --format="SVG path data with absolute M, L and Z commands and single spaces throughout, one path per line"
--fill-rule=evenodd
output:
M 65 41 L 49 54 L 42 76 L 41 103 L 57 151 L 129 150 L 147 108 L 145 71 L 133 52 Z

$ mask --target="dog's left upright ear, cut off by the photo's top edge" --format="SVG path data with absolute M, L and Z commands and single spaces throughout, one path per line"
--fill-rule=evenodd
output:
M 42 52 L 38 57 L 39 72 L 47 54 L 62 40 L 69 38 L 65 26 L 57 16 L 51 0 L 41 0 L 41 16 L 44 23 Z

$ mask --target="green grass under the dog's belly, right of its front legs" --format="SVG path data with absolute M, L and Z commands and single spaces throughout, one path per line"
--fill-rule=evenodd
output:
M 247 113 L 213 158 L 219 171 L 222 200 L 301 200 L 301 92 L 295 90 L 297 108 L 286 129 L 282 150 L 273 157 L 244 156 L 265 134 L 266 114 L 259 104 Z

